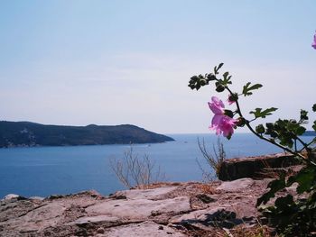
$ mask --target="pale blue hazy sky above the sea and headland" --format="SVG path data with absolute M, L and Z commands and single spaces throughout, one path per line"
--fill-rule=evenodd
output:
M 187 84 L 219 62 L 264 85 L 245 111 L 296 116 L 316 102 L 315 30 L 316 1 L 0 0 L 0 120 L 209 132 L 214 89 Z

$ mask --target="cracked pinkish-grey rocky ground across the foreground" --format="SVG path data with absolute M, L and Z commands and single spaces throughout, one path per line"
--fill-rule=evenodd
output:
M 6 196 L 0 236 L 251 236 L 246 232 L 261 228 L 255 205 L 269 180 L 160 183 L 111 196 Z

